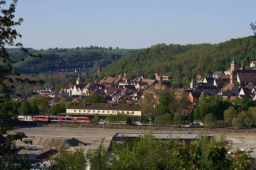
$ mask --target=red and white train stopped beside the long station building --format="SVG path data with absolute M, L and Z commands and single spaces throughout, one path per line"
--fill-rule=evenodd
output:
M 47 121 L 47 118 L 50 117 L 51 121 L 62 121 L 62 122 L 73 122 L 76 120 L 76 122 L 92 122 L 92 119 L 90 117 L 71 117 L 71 116 L 44 116 L 44 115 L 38 115 L 34 116 L 34 121 Z

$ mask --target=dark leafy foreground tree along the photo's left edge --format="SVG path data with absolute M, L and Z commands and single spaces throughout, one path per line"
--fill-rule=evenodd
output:
M 36 81 L 31 81 L 28 78 L 20 78 L 21 73 L 17 72 L 13 68 L 13 64 L 17 63 L 18 61 L 24 61 L 24 58 L 18 59 L 15 61 L 10 58 L 8 51 L 6 50 L 5 46 L 13 46 L 18 47 L 25 53 L 28 53 L 28 50 L 22 46 L 22 43 L 14 43 L 17 37 L 21 37 L 19 33 L 17 33 L 14 27 L 19 26 L 23 19 L 20 18 L 18 21 L 14 21 L 14 12 L 16 8 L 17 0 L 13 0 L 10 2 L 10 6 L 6 5 L 6 1 L 0 0 L 0 58 L 2 61 L 2 65 L 0 66 L 0 87 L 4 92 L 9 92 L 10 89 L 15 88 L 14 82 L 21 82 L 21 83 L 36 83 Z M 7 9 L 5 9 L 7 8 Z M 35 56 L 29 54 L 30 57 L 41 57 L 41 55 Z M 13 76 L 10 76 L 13 75 Z M 10 84 L 7 84 L 9 82 Z M 42 81 L 40 81 L 42 83 Z M 4 97 L 0 96 L 0 118 L 1 119 L 11 119 L 13 121 L 17 121 L 14 115 L 6 114 L 8 113 L 11 108 L 8 107 L 8 104 L 4 101 Z M 19 111 L 20 112 L 20 111 Z M 0 135 L 6 135 L 7 131 L 10 131 L 14 128 L 14 124 L 5 124 L 4 121 L 0 121 Z M 22 141 L 22 137 L 24 133 L 18 133 L 16 135 L 8 135 L 10 140 L 6 140 L 4 145 L 0 145 L 0 167 L 2 169 L 13 169 L 15 164 L 19 165 L 19 169 L 30 169 L 31 165 L 30 162 L 24 161 L 24 158 L 28 158 L 27 154 L 17 154 L 21 150 L 24 150 L 24 147 L 16 147 L 16 140 Z M 26 142 L 28 143 L 28 142 Z M 32 144 L 32 142 L 30 141 Z M 7 164 L 6 164 L 7 163 Z

